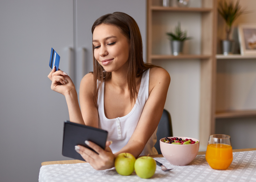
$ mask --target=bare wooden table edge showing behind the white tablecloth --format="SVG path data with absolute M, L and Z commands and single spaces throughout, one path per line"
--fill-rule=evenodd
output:
M 256 148 L 251 149 L 233 149 L 233 152 L 244 152 L 244 151 L 253 151 L 256 150 Z M 197 155 L 204 155 L 206 152 L 198 152 Z M 163 157 L 162 154 L 158 155 L 150 155 L 151 157 Z M 50 164 L 77 164 L 77 163 L 86 163 L 85 161 L 81 160 L 67 160 L 67 161 L 48 161 L 48 162 L 42 162 L 41 165 L 50 165 Z

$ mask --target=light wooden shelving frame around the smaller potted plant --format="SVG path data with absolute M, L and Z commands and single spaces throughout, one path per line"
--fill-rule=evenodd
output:
M 214 134 L 215 129 L 215 77 L 216 77 L 216 48 L 217 48 L 217 1 L 202 0 L 200 8 L 190 7 L 163 7 L 156 6 L 157 0 L 147 0 L 147 63 L 153 60 L 172 61 L 176 59 L 201 60 L 200 72 L 200 114 L 199 114 L 199 140 L 200 145 L 206 145 L 209 135 Z M 152 51 L 154 13 L 178 12 L 201 14 L 201 50 L 200 55 L 156 55 Z M 165 14 L 166 15 L 166 14 Z M 167 16 L 172 16 L 167 15 Z M 171 19 L 171 17 L 170 17 Z M 155 62 L 156 63 L 156 62 Z M 206 149 L 206 146 L 205 149 Z

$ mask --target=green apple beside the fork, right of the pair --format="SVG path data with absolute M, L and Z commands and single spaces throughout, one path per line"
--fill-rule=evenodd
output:
M 156 171 L 156 161 L 152 157 L 139 157 L 134 164 L 136 174 L 141 178 L 151 178 Z

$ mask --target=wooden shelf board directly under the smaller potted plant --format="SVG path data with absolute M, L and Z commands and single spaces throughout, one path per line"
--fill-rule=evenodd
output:
M 181 54 L 178 56 L 174 55 L 151 55 L 151 59 L 209 59 L 210 55 L 195 55 L 195 54 Z

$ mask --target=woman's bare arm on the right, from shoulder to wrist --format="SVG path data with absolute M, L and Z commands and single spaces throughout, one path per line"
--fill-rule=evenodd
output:
M 115 156 L 123 152 L 131 153 L 134 157 L 141 154 L 161 119 L 169 84 L 170 76 L 166 70 L 157 67 L 150 69 L 149 97 L 140 120 L 129 142 Z

